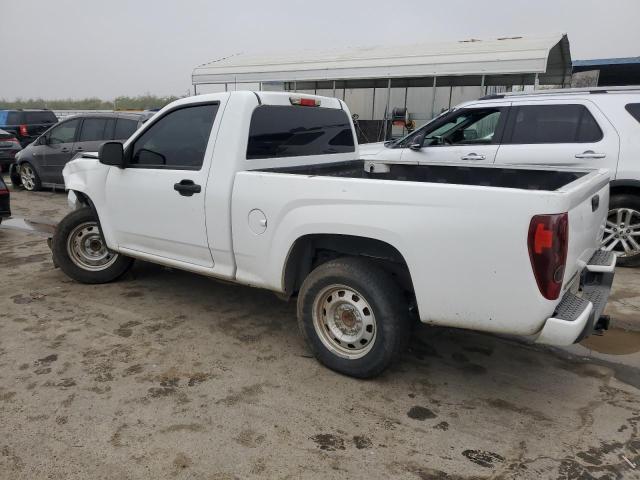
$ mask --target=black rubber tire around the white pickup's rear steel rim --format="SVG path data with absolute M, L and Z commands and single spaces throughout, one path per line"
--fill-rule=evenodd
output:
M 321 302 L 334 286 L 357 292 L 373 311 L 375 337 L 372 345 L 363 347 L 370 349 L 360 358 L 345 358 L 327 346 L 327 342 L 339 343 L 335 337 L 327 340 L 326 335 L 332 334 Z M 318 312 L 316 318 L 323 316 L 318 328 L 325 330 L 320 333 L 314 322 L 314 310 Z M 394 362 L 407 347 L 410 324 L 407 301 L 400 287 L 387 272 L 364 258 L 345 257 L 320 265 L 307 276 L 298 295 L 298 326 L 311 351 L 326 367 L 351 377 L 374 377 Z M 325 335 L 324 340 L 321 335 Z

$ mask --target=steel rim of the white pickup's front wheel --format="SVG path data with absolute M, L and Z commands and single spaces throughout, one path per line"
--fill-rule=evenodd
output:
M 96 222 L 81 223 L 71 231 L 67 237 L 67 253 L 74 264 L 92 272 L 109 268 L 118 258 L 102 241 Z

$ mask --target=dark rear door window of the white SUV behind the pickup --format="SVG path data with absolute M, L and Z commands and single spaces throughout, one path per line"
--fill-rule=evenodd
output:
M 512 107 L 503 143 L 594 143 L 602 138 L 600 126 L 584 105 L 522 105 Z

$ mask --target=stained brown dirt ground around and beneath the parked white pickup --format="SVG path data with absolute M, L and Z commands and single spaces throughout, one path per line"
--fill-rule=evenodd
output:
M 67 208 L 12 195 L 15 216 Z M 141 262 L 79 285 L 6 230 L 0 271 L 3 479 L 640 478 L 633 342 L 619 366 L 420 326 L 358 381 L 311 358 L 295 305 L 265 291 Z M 640 322 L 638 285 L 621 270 L 619 326 Z

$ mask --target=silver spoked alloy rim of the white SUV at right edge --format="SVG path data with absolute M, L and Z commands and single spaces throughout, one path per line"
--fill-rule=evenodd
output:
M 609 210 L 602 245 L 621 257 L 640 254 L 640 212 L 633 208 Z

